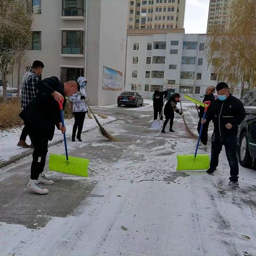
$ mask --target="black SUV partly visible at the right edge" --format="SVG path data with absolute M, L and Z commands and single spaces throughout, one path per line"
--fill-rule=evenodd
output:
M 246 116 L 237 133 L 239 163 L 252 167 L 253 158 L 256 158 L 256 88 L 247 92 L 241 101 Z

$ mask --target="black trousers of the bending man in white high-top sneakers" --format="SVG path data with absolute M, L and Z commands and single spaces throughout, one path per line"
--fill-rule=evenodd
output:
M 48 135 L 43 129 L 27 124 L 28 135 L 34 146 L 33 161 L 31 164 L 30 179 L 37 180 L 44 171 L 46 155 L 48 152 Z

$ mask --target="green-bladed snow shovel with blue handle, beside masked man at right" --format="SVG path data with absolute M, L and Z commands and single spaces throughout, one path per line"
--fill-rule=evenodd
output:
M 205 108 L 204 108 L 204 116 L 205 119 L 207 108 L 210 106 L 211 101 L 205 101 Z M 196 152 L 194 155 L 179 155 L 177 156 L 178 166 L 177 171 L 194 171 L 194 170 L 206 170 L 209 169 L 210 166 L 210 158 L 209 155 L 197 155 L 197 150 L 199 146 L 199 142 L 201 139 L 203 131 L 203 124 L 201 124 L 197 145 L 196 145 Z

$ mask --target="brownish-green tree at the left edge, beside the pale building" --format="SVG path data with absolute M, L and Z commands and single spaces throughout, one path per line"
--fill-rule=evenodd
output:
M 7 75 L 26 58 L 29 47 L 33 19 L 27 10 L 27 1 L 0 0 L 0 70 L 4 102 L 7 102 Z

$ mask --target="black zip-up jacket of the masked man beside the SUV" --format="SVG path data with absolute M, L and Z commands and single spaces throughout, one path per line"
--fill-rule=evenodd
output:
M 208 114 L 207 114 L 208 113 Z M 242 123 L 245 118 L 245 109 L 243 103 L 231 94 L 229 97 L 221 101 L 214 100 L 211 103 L 209 110 L 207 110 L 206 119 L 214 124 L 214 131 L 216 135 L 221 137 L 236 135 L 238 125 Z M 233 127 L 227 129 L 225 125 L 230 123 Z

